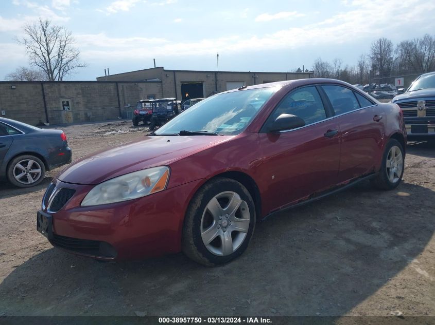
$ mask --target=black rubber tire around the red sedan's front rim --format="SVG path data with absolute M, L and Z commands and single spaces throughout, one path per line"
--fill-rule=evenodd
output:
M 213 254 L 205 246 L 201 237 L 201 222 L 203 220 L 202 218 L 203 214 L 204 215 L 206 214 L 205 211 L 206 211 L 207 204 L 211 202 L 211 200 L 215 198 L 217 195 L 220 195 L 222 193 L 229 193 L 229 192 L 234 192 L 238 194 L 239 199 L 244 201 L 244 203 L 242 203 L 239 207 L 240 209 L 242 209 L 242 211 L 246 211 L 246 207 L 249 209 L 249 226 L 247 227 L 247 232 L 240 233 L 242 234 L 243 239 L 239 243 L 239 246 L 236 247 L 235 251 L 233 251 L 232 254 L 226 256 L 218 256 Z M 232 220 L 232 219 L 228 219 L 228 220 Z M 233 219 L 233 220 L 237 220 L 237 219 Z M 214 221 L 212 220 L 212 223 L 213 222 Z M 231 223 L 229 223 L 229 225 L 225 224 L 225 226 L 229 227 L 230 229 Z M 213 224 L 210 228 L 212 227 L 214 228 Z M 189 258 L 193 259 L 194 261 L 200 264 L 206 266 L 215 266 L 219 264 L 224 264 L 240 256 L 246 250 L 252 238 L 252 234 L 254 233 L 254 227 L 255 227 L 255 205 L 246 187 L 233 179 L 216 178 L 205 183 L 198 190 L 198 192 L 193 197 L 192 201 L 190 201 L 189 203 L 184 218 L 184 223 L 183 223 L 182 250 L 184 254 L 186 254 Z M 219 227 L 219 230 L 225 232 L 224 227 L 222 227 L 221 229 Z M 229 234 L 230 238 L 232 238 L 233 232 L 234 231 L 228 231 L 227 236 Z M 236 231 L 236 236 L 238 236 L 237 231 Z M 221 242 L 220 239 L 221 237 L 219 238 L 218 237 L 219 236 L 216 236 L 215 239 Z M 231 245 L 233 245 L 233 240 L 234 239 L 232 238 Z M 213 243 L 213 241 L 211 243 Z M 222 242 L 221 245 L 223 245 Z

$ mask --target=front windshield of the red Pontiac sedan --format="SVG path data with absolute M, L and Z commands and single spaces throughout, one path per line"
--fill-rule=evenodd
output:
M 155 135 L 206 131 L 218 135 L 241 133 L 277 87 L 227 92 L 207 98 L 163 125 Z

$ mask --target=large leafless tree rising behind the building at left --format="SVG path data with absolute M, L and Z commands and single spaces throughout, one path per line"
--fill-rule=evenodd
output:
M 26 48 L 31 64 L 42 69 L 49 81 L 62 81 L 75 69 L 85 67 L 80 62 L 80 51 L 74 47 L 71 31 L 63 26 L 53 25 L 41 17 L 39 21 L 24 26 L 25 37 L 16 42 Z

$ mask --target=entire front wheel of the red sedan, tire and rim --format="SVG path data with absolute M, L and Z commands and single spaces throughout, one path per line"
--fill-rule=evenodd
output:
M 240 256 L 255 227 L 255 206 L 245 186 L 229 178 L 203 185 L 190 201 L 183 224 L 183 252 L 214 266 Z

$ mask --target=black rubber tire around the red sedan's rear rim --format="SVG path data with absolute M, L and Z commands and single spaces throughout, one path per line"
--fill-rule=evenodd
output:
M 396 147 L 400 150 L 402 155 L 402 171 L 399 173 L 400 175 L 396 175 L 397 177 L 393 177 L 393 181 L 388 177 L 389 169 L 387 167 L 387 159 L 390 154 L 390 150 Z M 396 149 L 397 150 L 397 149 Z M 371 180 L 373 186 L 379 189 L 389 190 L 396 188 L 402 181 L 403 172 L 405 170 L 405 154 L 403 151 L 402 144 L 395 139 L 390 139 L 385 146 L 384 155 L 382 156 L 382 163 L 380 166 L 380 170 L 375 178 Z M 394 176 L 394 175 L 393 175 Z

